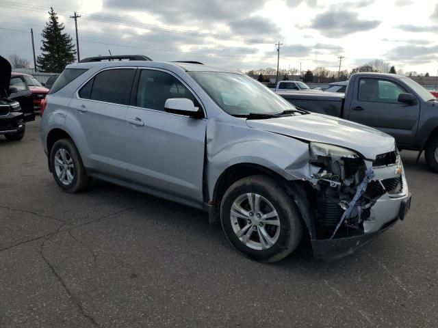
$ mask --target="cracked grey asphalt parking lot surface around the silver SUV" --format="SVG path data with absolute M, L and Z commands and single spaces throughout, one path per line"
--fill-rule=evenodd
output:
M 0 327 L 438 327 L 438 175 L 402 152 L 407 219 L 357 254 L 237 254 L 207 214 L 94 181 L 64 193 L 38 130 L 0 137 Z

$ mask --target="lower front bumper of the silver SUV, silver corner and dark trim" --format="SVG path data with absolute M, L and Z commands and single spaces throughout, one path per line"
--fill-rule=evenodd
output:
M 374 207 L 376 214 L 374 216 L 374 227 L 360 236 L 348 238 L 334 238 L 323 240 L 312 240 L 313 256 L 320 260 L 335 260 L 353 254 L 357 249 L 367 245 L 379 234 L 394 226 L 398 220 L 406 217 L 411 207 L 411 193 L 399 198 L 385 197 L 383 195 Z M 365 226 L 365 225 L 364 225 Z

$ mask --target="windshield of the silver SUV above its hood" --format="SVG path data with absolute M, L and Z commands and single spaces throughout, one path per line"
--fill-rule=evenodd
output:
M 189 72 L 216 104 L 230 115 L 279 114 L 295 107 L 246 75 Z

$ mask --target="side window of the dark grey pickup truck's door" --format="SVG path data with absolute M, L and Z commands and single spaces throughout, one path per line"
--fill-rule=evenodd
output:
M 379 79 L 361 79 L 359 82 L 359 100 L 372 102 L 398 102 L 398 95 L 405 91 L 391 81 Z

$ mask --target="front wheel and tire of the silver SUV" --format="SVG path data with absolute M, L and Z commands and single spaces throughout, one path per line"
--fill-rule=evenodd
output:
M 260 262 L 292 253 L 302 238 L 302 221 L 292 197 L 268 176 L 249 176 L 229 187 L 220 221 L 237 251 Z

